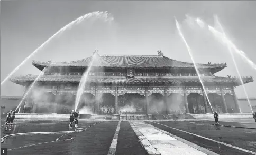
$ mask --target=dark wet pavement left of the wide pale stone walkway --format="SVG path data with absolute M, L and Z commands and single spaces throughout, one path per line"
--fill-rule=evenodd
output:
M 3 124 L 2 121 L 1 124 Z M 1 128 L 1 137 L 7 134 L 23 132 L 52 132 L 71 131 L 68 128 L 69 122 L 21 122 L 17 121 L 12 130 L 4 131 Z M 86 128 L 94 122 L 79 121 L 79 128 Z M 79 133 L 70 133 L 56 141 L 63 134 L 36 134 L 19 135 L 4 139 L 2 148 L 7 148 L 8 154 L 107 154 L 117 127 L 117 121 L 100 122 L 87 130 Z M 128 122 L 121 122 L 120 135 L 117 141 L 116 154 L 147 154 L 141 146 L 131 125 Z M 38 145 L 34 145 L 38 144 Z M 32 146 L 31 146 L 32 145 Z

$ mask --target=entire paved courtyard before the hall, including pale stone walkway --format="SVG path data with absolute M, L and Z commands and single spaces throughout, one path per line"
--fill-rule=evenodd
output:
M 79 128 L 97 122 L 80 120 Z M 56 139 L 63 134 L 19 135 L 4 139 L 1 147 L 8 154 L 256 154 L 256 129 L 212 124 L 210 120 L 103 121 L 83 132 L 66 134 L 60 141 Z M 242 120 L 222 124 L 256 128 L 256 123 Z M 1 128 L 1 137 L 72 130 L 68 122 L 16 121 L 10 131 Z

